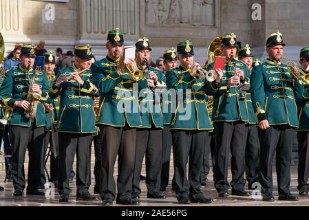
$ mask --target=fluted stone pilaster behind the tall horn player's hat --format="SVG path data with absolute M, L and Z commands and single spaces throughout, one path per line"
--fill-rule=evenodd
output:
M 138 0 L 78 0 L 78 4 L 80 42 L 102 43 L 114 28 L 125 32 L 125 41 L 139 36 Z

